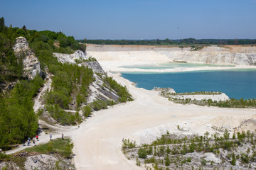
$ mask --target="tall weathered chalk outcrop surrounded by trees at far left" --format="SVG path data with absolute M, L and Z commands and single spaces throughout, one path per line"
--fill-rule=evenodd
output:
M 15 55 L 23 58 L 23 77 L 33 79 L 36 74 L 42 76 L 40 62 L 33 51 L 28 47 L 26 38 L 16 38 L 15 45 L 13 47 Z

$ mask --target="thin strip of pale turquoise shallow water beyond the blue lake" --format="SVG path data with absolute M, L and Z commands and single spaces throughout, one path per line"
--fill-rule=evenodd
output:
M 127 69 L 185 69 L 187 67 L 234 67 L 231 65 L 214 65 L 214 64 L 193 64 L 193 63 L 182 63 L 182 62 L 169 62 L 164 64 L 144 64 L 144 65 L 126 65 L 122 68 Z

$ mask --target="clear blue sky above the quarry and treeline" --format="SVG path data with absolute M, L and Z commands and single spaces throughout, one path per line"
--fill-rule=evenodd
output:
M 256 38 L 256 0 L 0 0 L 1 16 L 76 39 Z

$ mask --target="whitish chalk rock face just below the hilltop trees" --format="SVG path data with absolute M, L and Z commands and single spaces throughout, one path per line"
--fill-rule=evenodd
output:
M 75 60 L 87 60 L 88 57 L 86 56 L 85 52 L 81 50 L 76 50 L 75 53 L 68 55 L 62 54 L 58 52 L 53 52 L 53 55 L 58 58 L 58 61 L 61 63 L 68 62 L 70 64 L 76 64 Z

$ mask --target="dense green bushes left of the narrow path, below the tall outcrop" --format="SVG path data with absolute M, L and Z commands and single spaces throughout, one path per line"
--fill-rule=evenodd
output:
M 0 96 L 0 147 L 5 148 L 36 135 L 38 117 L 33 111 L 32 98 L 43 86 L 43 79 L 21 80 L 9 96 Z

